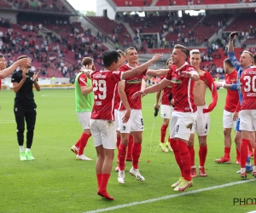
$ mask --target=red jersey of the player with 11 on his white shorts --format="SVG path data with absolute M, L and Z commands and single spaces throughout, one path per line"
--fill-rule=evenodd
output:
M 194 102 L 193 89 L 195 81 L 185 78 L 182 72 L 196 72 L 194 66 L 187 62 L 180 68 L 172 66 L 166 75 L 166 80 L 172 84 L 172 98 L 174 99 L 174 110 L 177 112 L 196 112 L 197 107 Z

